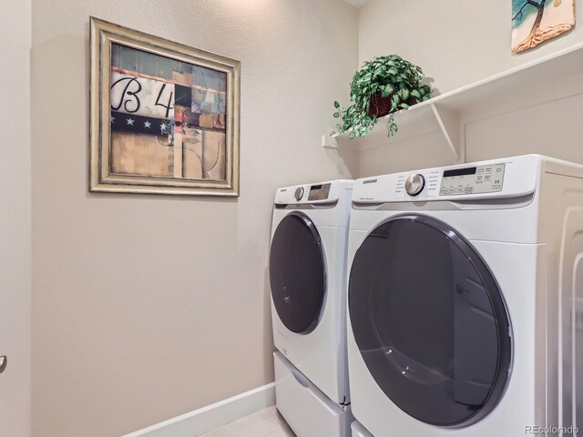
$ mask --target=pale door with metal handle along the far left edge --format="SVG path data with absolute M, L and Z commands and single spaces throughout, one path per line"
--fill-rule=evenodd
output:
M 30 436 L 30 0 L 0 14 L 0 433 Z

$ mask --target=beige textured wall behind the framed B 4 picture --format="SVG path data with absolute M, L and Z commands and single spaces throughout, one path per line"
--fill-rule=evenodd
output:
M 89 15 L 241 61 L 240 198 L 87 193 Z M 119 436 L 272 381 L 272 198 L 350 177 L 321 143 L 355 9 L 34 0 L 32 17 L 35 435 Z

